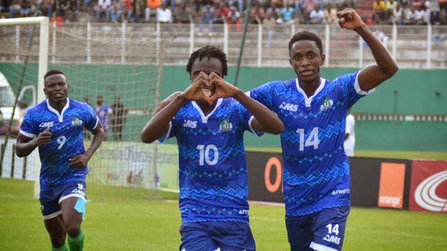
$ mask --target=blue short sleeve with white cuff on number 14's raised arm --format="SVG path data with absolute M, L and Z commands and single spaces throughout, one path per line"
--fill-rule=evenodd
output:
M 353 104 L 361 99 L 362 97 L 369 95 L 375 91 L 375 88 L 369 91 L 362 91 L 360 88 L 360 84 L 358 83 L 358 74 L 360 71 L 356 73 L 351 73 L 347 75 L 342 75 L 338 77 L 336 80 L 342 84 L 343 95 L 345 97 L 345 101 L 347 101 L 347 107 L 351 107 Z

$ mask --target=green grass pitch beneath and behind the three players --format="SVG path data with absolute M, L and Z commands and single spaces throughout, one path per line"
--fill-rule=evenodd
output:
M 0 250 L 50 250 L 32 186 L 29 181 L 0 179 Z M 111 194 L 89 197 L 84 250 L 178 250 L 175 200 L 124 200 Z M 282 206 L 251 204 L 250 224 L 257 250 L 287 250 Z M 447 250 L 446 231 L 445 214 L 352 208 L 343 250 Z

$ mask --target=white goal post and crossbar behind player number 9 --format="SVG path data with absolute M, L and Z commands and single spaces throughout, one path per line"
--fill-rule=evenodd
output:
M 0 27 L 20 27 L 23 25 L 36 25 L 39 27 L 39 68 L 37 73 L 37 102 L 39 103 L 45 99 L 45 93 L 43 93 L 43 76 L 47 72 L 48 67 L 48 38 L 50 21 L 46 16 L 25 17 L 19 19 L 0 19 Z M 19 94 L 17 93 L 17 95 Z M 38 151 L 32 152 L 32 155 L 32 165 L 34 167 L 34 198 L 39 199 L 39 176 L 41 172 L 41 163 Z M 3 165 L 3 163 L 0 163 L 0 165 Z

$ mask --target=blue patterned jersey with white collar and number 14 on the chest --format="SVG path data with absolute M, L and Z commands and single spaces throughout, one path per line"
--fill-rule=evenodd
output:
M 250 91 L 284 123 L 283 189 L 286 215 L 307 215 L 349 206 L 349 162 L 343 149 L 347 110 L 371 93 L 361 91 L 358 73 L 321 78 L 312 97 L 298 80 L 269 82 Z

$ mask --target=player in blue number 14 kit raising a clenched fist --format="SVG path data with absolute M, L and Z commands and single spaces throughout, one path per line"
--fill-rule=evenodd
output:
M 351 193 L 343 149 L 347 111 L 397 71 L 393 57 L 355 10 L 342 10 L 338 18 L 341 27 L 362 36 L 376 65 L 325 80 L 320 77 L 325 61 L 320 38 L 299 32 L 289 42 L 290 64 L 297 77 L 250 91 L 284 123 L 285 224 L 294 251 L 342 249 Z

